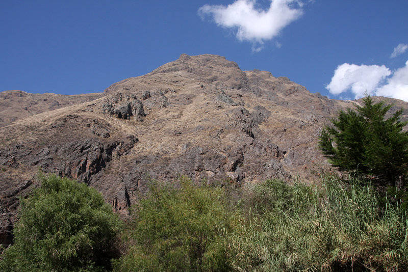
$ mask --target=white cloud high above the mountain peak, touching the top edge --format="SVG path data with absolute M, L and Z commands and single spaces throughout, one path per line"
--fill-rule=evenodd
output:
M 271 40 L 288 24 L 298 19 L 303 11 L 296 0 L 271 0 L 268 10 L 256 8 L 256 0 L 236 0 L 228 6 L 205 5 L 198 9 L 201 17 L 210 15 L 224 28 L 236 30 L 240 41 L 253 43 L 252 50 L 260 51 L 266 40 Z

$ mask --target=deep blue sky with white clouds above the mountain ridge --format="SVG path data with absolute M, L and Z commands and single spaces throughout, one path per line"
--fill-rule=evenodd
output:
M 0 91 L 101 92 L 211 53 L 312 93 L 408 101 L 406 0 L 1 1 Z

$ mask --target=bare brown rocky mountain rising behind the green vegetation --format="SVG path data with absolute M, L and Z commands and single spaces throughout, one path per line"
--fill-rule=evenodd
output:
M 38 185 L 39 169 L 87 183 L 123 215 L 149 179 L 313 182 L 329 170 L 317 144 L 322 125 L 359 101 L 312 94 L 224 57 L 183 54 L 104 93 L 7 91 L 0 103 L 0 243 L 8 244 L 18 198 Z

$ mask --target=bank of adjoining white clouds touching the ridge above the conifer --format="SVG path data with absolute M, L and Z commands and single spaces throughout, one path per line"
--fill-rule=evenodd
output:
M 335 95 L 351 90 L 356 99 L 367 91 L 371 95 L 408 101 L 408 61 L 393 72 L 384 65 L 344 63 L 337 67 L 326 89 Z

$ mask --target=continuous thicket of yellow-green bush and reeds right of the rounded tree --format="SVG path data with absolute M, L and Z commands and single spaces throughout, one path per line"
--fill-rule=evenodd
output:
M 186 179 L 181 190 L 151 190 L 133 211 L 116 271 L 408 269 L 406 210 L 356 181 L 267 180 L 238 202 Z

